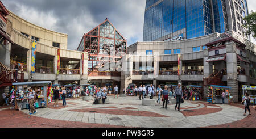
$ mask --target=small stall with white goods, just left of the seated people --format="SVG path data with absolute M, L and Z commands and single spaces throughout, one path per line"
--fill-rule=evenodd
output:
M 67 98 L 79 98 L 80 86 L 79 85 L 65 85 L 67 91 Z

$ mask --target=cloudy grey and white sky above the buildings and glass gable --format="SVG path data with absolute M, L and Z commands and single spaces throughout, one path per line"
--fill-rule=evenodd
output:
M 106 18 L 127 39 L 142 41 L 146 0 L 2 0 L 14 14 L 49 30 L 68 34 L 68 49 L 76 49 L 82 35 Z M 247 0 L 256 11 L 256 1 Z M 254 44 L 256 44 L 256 41 Z

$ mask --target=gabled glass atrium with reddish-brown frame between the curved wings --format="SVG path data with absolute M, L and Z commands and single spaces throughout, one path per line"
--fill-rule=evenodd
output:
M 126 40 L 108 19 L 82 36 L 79 51 L 88 52 L 88 81 L 97 86 L 120 86 L 115 65 L 126 54 Z

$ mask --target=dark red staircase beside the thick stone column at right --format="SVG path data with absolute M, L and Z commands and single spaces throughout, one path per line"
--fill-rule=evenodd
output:
M 208 85 L 218 85 L 218 86 L 225 86 L 225 83 L 222 82 L 224 69 L 221 71 L 214 71 L 208 78 L 204 78 L 204 86 Z

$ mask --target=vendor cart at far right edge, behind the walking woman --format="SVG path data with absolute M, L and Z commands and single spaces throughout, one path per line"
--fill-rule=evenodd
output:
M 256 86 L 242 85 L 242 100 L 245 99 L 245 93 L 248 93 L 251 98 L 251 104 L 256 104 Z

